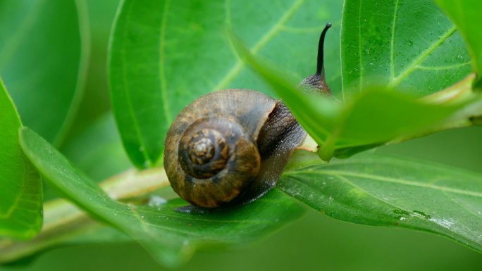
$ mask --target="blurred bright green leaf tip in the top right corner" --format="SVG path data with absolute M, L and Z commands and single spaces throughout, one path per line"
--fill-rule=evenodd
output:
M 482 69 L 482 32 L 479 27 L 482 24 L 481 2 L 477 0 L 435 0 L 435 2 L 443 8 L 443 11 L 457 25 L 457 30 L 459 30 L 469 46 L 474 71 L 480 75 Z M 476 87 L 481 87 L 481 82 L 482 80 L 479 76 L 474 84 Z

